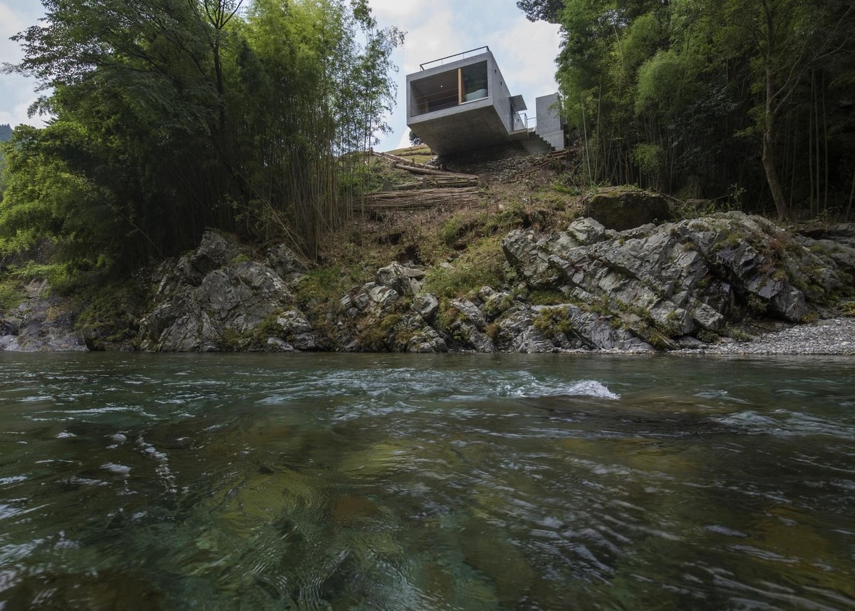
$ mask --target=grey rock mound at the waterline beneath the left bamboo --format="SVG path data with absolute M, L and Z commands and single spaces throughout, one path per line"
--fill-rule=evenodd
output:
M 161 352 L 321 349 L 280 273 L 241 259 L 233 242 L 208 232 L 195 252 L 166 264 L 156 306 L 140 321 L 140 347 Z M 302 269 L 285 246 L 271 249 L 265 260 L 292 281 Z

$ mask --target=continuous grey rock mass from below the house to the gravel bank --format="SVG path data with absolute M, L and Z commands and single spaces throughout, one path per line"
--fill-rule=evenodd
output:
M 593 218 L 555 234 L 516 230 L 503 242 L 522 279 L 515 287 L 439 300 L 424 292 L 424 270 L 393 263 L 340 300 L 334 343 L 433 353 L 703 347 L 744 317 L 798 322 L 851 288 L 852 249 L 799 240 L 741 213 L 622 232 Z M 531 302 L 544 295 L 551 305 Z

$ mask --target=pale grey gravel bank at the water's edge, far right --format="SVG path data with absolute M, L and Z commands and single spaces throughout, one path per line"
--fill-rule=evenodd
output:
M 679 353 L 855 355 L 855 318 L 830 318 L 770 331 L 752 341 L 729 341 Z

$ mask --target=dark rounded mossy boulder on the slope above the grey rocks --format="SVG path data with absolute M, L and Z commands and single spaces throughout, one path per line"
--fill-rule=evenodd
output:
M 591 198 L 587 215 L 605 228 L 624 231 L 650 222 L 668 221 L 671 211 L 661 195 L 612 187 Z

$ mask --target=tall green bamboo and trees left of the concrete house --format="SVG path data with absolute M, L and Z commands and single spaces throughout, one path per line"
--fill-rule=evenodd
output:
M 366 0 L 44 0 L 19 33 L 46 127 L 3 153 L 6 252 L 129 270 L 204 228 L 314 256 L 353 214 L 403 41 Z

